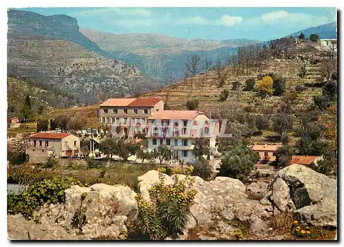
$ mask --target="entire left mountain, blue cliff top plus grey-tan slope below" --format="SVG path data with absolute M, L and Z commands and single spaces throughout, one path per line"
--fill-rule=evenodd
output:
M 46 83 L 83 103 L 158 86 L 137 67 L 109 58 L 78 29 L 65 15 L 8 11 L 8 76 Z

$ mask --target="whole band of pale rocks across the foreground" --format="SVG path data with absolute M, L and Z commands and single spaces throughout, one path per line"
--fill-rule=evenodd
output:
M 164 175 L 166 184 L 175 175 Z M 178 175 L 183 178 L 184 175 Z M 158 182 L 158 171 L 138 177 L 142 197 Z M 195 203 L 184 235 L 180 239 L 292 239 L 288 226 L 294 213 L 301 223 L 336 227 L 336 180 L 308 167 L 290 165 L 275 175 L 271 184 L 255 182 L 245 186 L 233 178 L 204 181 L 195 177 Z M 80 204 L 80 197 L 87 193 Z M 8 216 L 10 239 L 126 239 L 127 222 L 135 220 L 136 193 L 127 186 L 94 184 L 72 186 L 65 191 L 65 204 L 43 206 L 34 220 L 21 215 Z M 78 208 L 87 208 L 83 234 L 71 227 Z M 286 229 L 278 228 L 284 220 Z

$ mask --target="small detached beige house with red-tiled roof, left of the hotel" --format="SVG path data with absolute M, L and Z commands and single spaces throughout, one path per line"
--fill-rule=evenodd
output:
M 25 153 L 30 161 L 37 161 L 53 155 L 54 157 L 71 157 L 80 152 L 80 138 L 71 133 L 40 132 L 31 136 Z

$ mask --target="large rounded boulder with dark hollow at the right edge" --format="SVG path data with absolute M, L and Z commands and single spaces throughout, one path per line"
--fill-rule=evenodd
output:
M 272 184 L 272 203 L 292 210 L 301 222 L 337 226 L 336 180 L 299 164 L 281 169 Z

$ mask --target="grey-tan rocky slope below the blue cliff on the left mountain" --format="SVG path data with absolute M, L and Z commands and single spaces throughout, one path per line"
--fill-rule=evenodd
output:
M 22 76 L 96 103 L 101 97 L 150 88 L 138 68 L 105 58 L 75 43 L 43 37 L 8 38 L 8 76 Z

